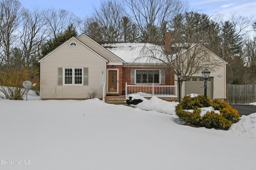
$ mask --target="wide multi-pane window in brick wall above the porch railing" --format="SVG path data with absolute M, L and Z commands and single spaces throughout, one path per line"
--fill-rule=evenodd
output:
M 160 83 L 160 70 L 136 70 L 136 83 Z

